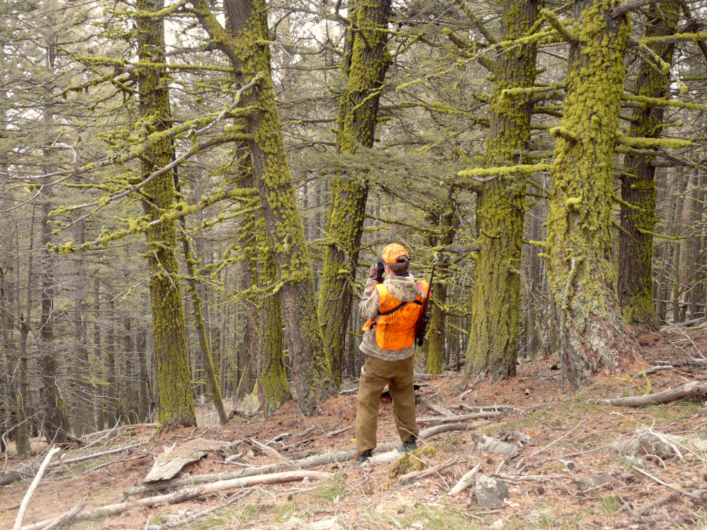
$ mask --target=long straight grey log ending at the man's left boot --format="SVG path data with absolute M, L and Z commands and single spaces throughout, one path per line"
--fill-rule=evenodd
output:
M 309 457 L 301 460 L 288 460 L 276 462 L 275 464 L 265 464 L 264 466 L 253 466 L 240 471 L 235 471 L 233 473 L 209 473 L 208 475 L 196 475 L 189 478 L 177 478 L 171 481 L 134 486 L 123 490 L 123 495 L 126 497 L 134 497 L 136 495 L 154 493 L 161 490 L 167 490 L 169 488 L 206 484 L 214 481 L 230 481 L 233 480 L 233 478 L 247 478 L 250 476 L 259 475 L 260 473 L 278 473 L 288 469 L 310 469 L 312 467 L 323 466 L 325 464 L 353 460 L 354 458 L 356 458 L 356 449 L 352 449 L 351 451 L 320 454 L 315 457 Z

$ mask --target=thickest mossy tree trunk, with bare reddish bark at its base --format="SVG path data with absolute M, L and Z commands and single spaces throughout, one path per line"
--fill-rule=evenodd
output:
M 624 90 L 626 16 L 613 1 L 575 2 L 566 100 L 557 136 L 547 273 L 561 360 L 573 387 L 617 372 L 636 355 L 626 332 L 612 265 L 614 141 Z

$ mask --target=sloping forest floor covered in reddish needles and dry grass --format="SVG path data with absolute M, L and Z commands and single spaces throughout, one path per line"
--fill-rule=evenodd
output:
M 666 331 L 662 336 L 639 337 L 647 360 L 703 358 L 707 352 L 707 329 Z M 433 476 L 401 485 L 390 464 L 380 462 L 354 468 L 351 461 L 318 466 L 316 471 L 332 473 L 322 481 L 256 486 L 245 498 L 238 497 L 222 507 L 239 490 L 206 495 L 175 505 L 136 507 L 100 520 L 78 522 L 82 529 L 144 529 L 160 524 L 177 524 L 188 514 L 214 509 L 183 529 L 703 529 L 707 530 L 707 451 L 694 449 L 677 437 L 697 435 L 707 440 L 707 407 L 703 401 L 674 401 L 667 404 L 629 408 L 606 404 L 604 399 L 655 393 L 685 382 L 707 379 L 703 368 L 676 367 L 646 377 L 631 376 L 596 379 L 575 393 L 561 391 L 557 360 L 521 363 L 518 377 L 493 385 L 481 385 L 464 395 L 457 390 L 460 374 L 448 372 L 440 377 L 419 379 L 418 418 L 440 416 L 440 408 L 453 413 L 469 413 L 469 408 L 499 405 L 501 418 L 462 422 L 467 430 L 443 432 L 420 442 L 433 447 L 420 458 L 434 468 L 450 459 L 453 464 Z M 636 365 L 632 373 L 650 365 Z M 331 454 L 353 449 L 353 429 L 337 435 L 326 433 L 354 424 L 356 384 L 349 383 L 349 394 L 334 396 L 322 406 L 319 416 L 305 418 L 288 403 L 271 417 L 233 416 L 224 427 L 205 426 L 179 432 L 156 434 L 154 429 L 122 431 L 112 447 L 139 440 L 148 443 L 127 454 L 62 466 L 49 473 L 30 500 L 24 524 L 57 517 L 86 497 L 86 508 L 110 505 L 124 500 L 123 490 L 139 485 L 153 466 L 163 447 L 187 440 L 206 438 L 235 442 L 255 439 L 267 444 L 279 435 L 309 430 L 310 434 L 288 441 L 287 437 L 269 443 L 284 457 L 297 453 Z M 428 406 L 436 410 L 431 410 Z M 203 412 L 203 411 L 202 411 Z M 438 425 L 424 420 L 420 428 Z M 312 429 L 313 427 L 313 429 Z M 637 454 L 609 451 L 607 444 L 630 440 L 637 430 L 650 432 L 665 444 L 648 444 Z M 650 430 L 650 431 L 647 431 Z M 519 457 L 504 460 L 501 454 L 480 452 L 474 439 L 479 435 L 497 438 L 501 432 L 517 431 L 527 437 Z M 674 436 L 667 437 L 667 435 Z M 389 401 L 382 400 L 378 425 L 379 448 L 391 451 L 399 444 Z M 107 444 L 104 448 L 107 447 Z M 181 476 L 204 473 L 233 473 L 245 465 L 272 464 L 276 454 L 259 451 L 255 444 L 242 444 L 245 453 L 240 464 L 225 461 L 220 451 L 211 451 Z M 97 450 L 95 447 L 91 451 Z M 67 451 L 64 458 L 85 454 Z M 35 458 L 35 468 L 42 455 Z M 55 457 L 56 458 L 56 457 Z M 571 464 L 567 464 L 571 462 Z M 7 469 L 27 466 L 9 455 Z M 448 495 L 453 485 L 472 467 L 479 473 L 498 478 L 508 485 L 509 497 L 498 507 L 484 509 L 469 493 Z M 23 469 L 27 469 L 26 467 Z M 293 468 L 296 469 L 296 466 Z M 392 478 L 391 478 L 392 475 Z M 588 490 L 579 487 L 582 475 L 604 476 L 610 483 Z M 16 481 L 0 488 L 0 529 L 12 528 L 28 481 Z M 673 493 L 673 488 L 694 488 Z M 697 493 L 694 493 L 694 492 Z M 665 497 L 664 504 L 639 513 L 648 503 Z M 150 526 L 151 525 L 151 526 Z M 162 526 L 168 528 L 174 526 Z

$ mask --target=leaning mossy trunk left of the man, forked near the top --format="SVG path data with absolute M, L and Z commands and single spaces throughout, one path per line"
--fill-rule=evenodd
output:
M 242 86 L 248 148 L 262 201 L 265 225 L 282 283 L 282 307 L 290 366 L 300 411 L 316 413 L 318 399 L 335 391 L 317 318 L 312 267 L 287 163 L 270 71 L 267 4 L 264 0 L 226 0 L 227 32 L 204 0 L 192 0 L 204 29 L 230 59 Z

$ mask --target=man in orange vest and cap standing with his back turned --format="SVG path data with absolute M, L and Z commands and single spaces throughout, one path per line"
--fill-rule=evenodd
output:
M 402 440 L 400 452 L 417 449 L 419 429 L 415 423 L 413 388 L 415 332 L 428 293 L 425 281 L 415 281 L 408 272 L 410 257 L 402 245 L 393 243 L 383 249 L 385 281 L 379 283 L 378 268 L 370 274 L 358 310 L 368 321 L 363 325 L 366 354 L 358 384 L 356 412 L 356 461 L 366 464 L 376 447 L 380 394 L 385 385 L 393 400 L 393 418 Z

